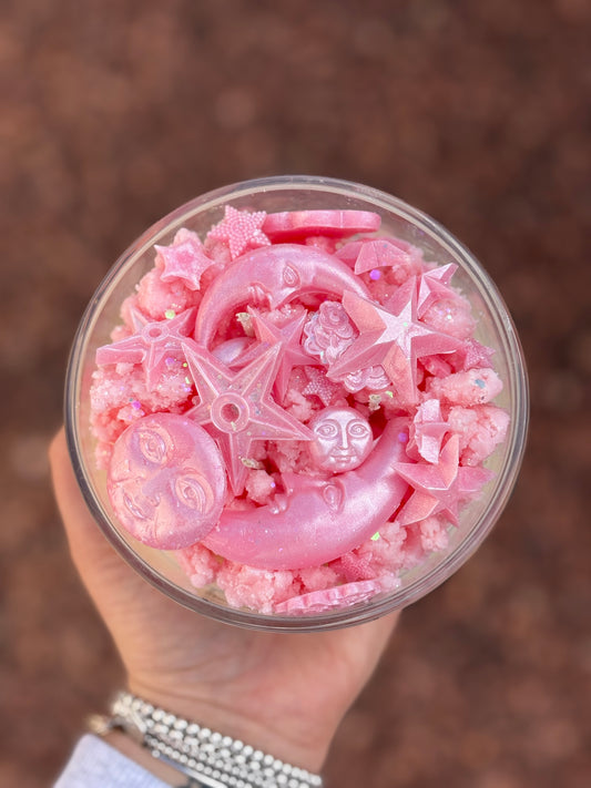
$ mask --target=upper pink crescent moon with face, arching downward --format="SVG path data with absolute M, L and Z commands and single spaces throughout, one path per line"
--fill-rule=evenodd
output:
M 369 298 L 364 283 L 334 255 L 298 244 L 262 246 L 234 260 L 206 290 L 195 340 L 211 347 L 224 318 L 243 304 L 276 309 L 305 293 L 342 297 L 345 290 Z

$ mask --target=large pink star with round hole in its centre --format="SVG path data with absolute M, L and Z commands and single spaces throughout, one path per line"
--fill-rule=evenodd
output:
M 312 432 L 271 397 L 279 345 L 263 350 L 238 372 L 232 372 L 191 339 L 183 344 L 183 350 L 200 397 L 187 416 L 217 441 L 236 495 L 244 488 L 244 460 L 253 441 L 312 440 Z

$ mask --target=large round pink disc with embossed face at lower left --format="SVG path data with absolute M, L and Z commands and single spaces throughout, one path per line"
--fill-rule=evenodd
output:
M 215 526 L 226 494 L 222 456 L 191 419 L 154 413 L 115 442 L 106 482 L 121 524 L 140 542 L 180 550 Z

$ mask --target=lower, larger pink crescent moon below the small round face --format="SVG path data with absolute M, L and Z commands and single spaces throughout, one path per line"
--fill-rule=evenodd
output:
M 400 504 L 408 483 L 395 465 L 405 458 L 408 419 L 389 421 L 359 468 L 329 481 L 291 474 L 282 505 L 224 512 L 203 544 L 231 561 L 295 570 L 334 561 L 370 539 Z

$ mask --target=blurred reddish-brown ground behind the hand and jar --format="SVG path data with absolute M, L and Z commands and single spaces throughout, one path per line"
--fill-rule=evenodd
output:
M 156 218 L 281 173 L 360 181 L 450 228 L 531 379 L 502 520 L 405 614 L 327 785 L 591 785 L 590 40 L 585 0 L 4 0 L 1 786 L 48 786 L 121 682 L 44 454 L 82 309 Z

